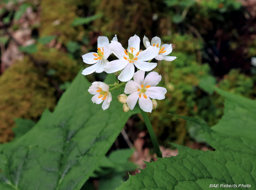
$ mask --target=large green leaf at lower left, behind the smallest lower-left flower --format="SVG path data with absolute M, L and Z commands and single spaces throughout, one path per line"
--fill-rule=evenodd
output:
M 113 74 L 106 79 L 115 80 Z M 80 190 L 128 118 L 139 112 L 122 112 L 114 99 L 103 111 L 92 103 L 90 86 L 79 72 L 53 113 L 45 111 L 30 131 L 0 146 L 0 189 Z

